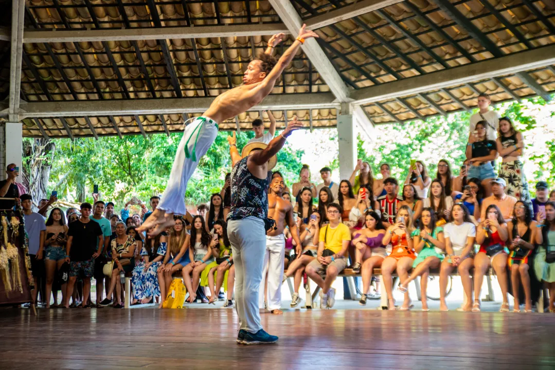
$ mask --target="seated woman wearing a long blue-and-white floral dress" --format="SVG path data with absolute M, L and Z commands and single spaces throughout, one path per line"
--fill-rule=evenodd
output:
M 154 231 L 152 227 L 149 231 Z M 139 303 L 152 303 L 155 296 L 160 296 L 160 285 L 158 283 L 158 268 L 162 265 L 162 260 L 167 250 L 166 234 L 162 233 L 144 241 L 140 255 L 143 261 L 137 263 L 133 268 L 133 278 L 131 286 L 133 288 L 133 305 Z

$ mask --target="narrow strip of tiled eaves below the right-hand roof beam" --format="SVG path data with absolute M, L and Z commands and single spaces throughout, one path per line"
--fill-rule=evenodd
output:
M 527 72 L 538 81 L 547 92 L 555 92 L 555 68 L 549 66 Z M 502 85 L 504 87 L 502 87 Z M 512 94 L 508 93 L 511 92 Z M 480 93 L 490 94 L 493 103 L 508 100 L 531 98 L 537 95 L 517 75 L 483 80 L 473 84 L 458 85 L 451 88 L 436 90 L 420 95 L 407 95 L 397 99 L 387 99 L 370 103 L 364 109 L 375 124 L 411 121 L 427 116 L 443 115 L 462 110 L 450 96 L 459 99 L 466 107 L 476 108 L 477 97 Z M 442 110 L 442 111 L 441 111 Z

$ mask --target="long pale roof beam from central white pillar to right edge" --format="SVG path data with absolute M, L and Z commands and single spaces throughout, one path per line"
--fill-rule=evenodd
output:
M 362 88 L 352 92 L 351 98 L 355 100 L 353 104 L 381 102 L 386 99 L 450 88 L 493 77 L 542 68 L 552 64 L 555 64 L 555 45 L 509 54 L 501 58 L 465 64 L 461 67 L 443 69 L 387 84 Z

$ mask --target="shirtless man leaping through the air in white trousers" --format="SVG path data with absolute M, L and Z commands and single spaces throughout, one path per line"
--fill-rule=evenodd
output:
M 281 55 L 277 63 L 271 55 L 261 54 L 259 59 L 249 63 L 243 76 L 243 85 L 220 94 L 202 116 L 195 118 L 185 127 L 171 168 L 168 185 L 162 195 L 162 201 L 144 224 L 138 227 L 137 231 L 148 231 L 155 226 L 155 229 L 150 232 L 150 236 L 158 235 L 175 224 L 174 214 L 186 214 L 187 183 L 198 165 L 198 160 L 206 154 L 214 142 L 218 134 L 218 124 L 260 104 L 271 93 L 276 80 L 285 67 L 291 63 L 305 39 L 318 37 L 316 33 L 307 31 L 305 28 L 306 25 L 303 24 L 299 30 L 299 36 Z M 270 39 L 271 45 L 269 42 L 269 46 L 275 47 L 284 38 L 285 35 L 282 33 L 274 35 Z

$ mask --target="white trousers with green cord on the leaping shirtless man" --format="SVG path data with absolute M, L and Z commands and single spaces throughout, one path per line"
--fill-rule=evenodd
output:
M 197 117 L 185 126 L 183 137 L 179 142 L 175 160 L 171 166 L 168 185 L 164 190 L 158 208 L 166 213 L 185 215 L 185 191 L 187 183 L 199 164 L 200 158 L 206 154 L 208 149 L 218 135 L 218 125 L 210 118 Z M 189 158 L 185 155 L 185 146 Z

